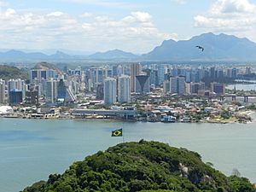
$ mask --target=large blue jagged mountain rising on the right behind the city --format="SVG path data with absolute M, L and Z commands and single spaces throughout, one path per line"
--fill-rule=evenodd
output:
M 195 49 L 205 48 L 204 53 Z M 237 38 L 224 33 L 203 33 L 189 40 L 164 41 L 148 54 L 146 61 L 256 61 L 256 44 L 247 38 Z

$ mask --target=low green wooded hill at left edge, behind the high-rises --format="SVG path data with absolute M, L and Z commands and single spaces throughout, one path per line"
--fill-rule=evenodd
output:
M 17 67 L 0 65 L 0 79 L 28 79 L 28 72 Z

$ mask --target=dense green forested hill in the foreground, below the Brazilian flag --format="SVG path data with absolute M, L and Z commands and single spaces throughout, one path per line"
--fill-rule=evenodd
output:
M 24 192 L 253 192 L 247 178 L 226 177 L 187 149 L 164 143 L 121 143 L 75 162 L 62 175 Z

